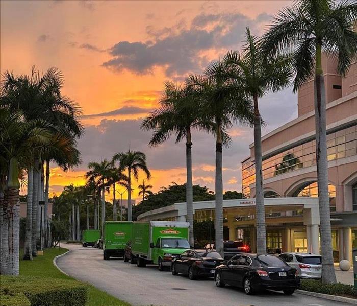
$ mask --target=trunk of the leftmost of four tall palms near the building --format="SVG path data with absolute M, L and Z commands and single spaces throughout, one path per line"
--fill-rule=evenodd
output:
M 186 136 L 186 221 L 190 223 L 190 246 L 194 246 L 193 235 L 193 190 L 192 190 L 192 142 L 191 131 Z

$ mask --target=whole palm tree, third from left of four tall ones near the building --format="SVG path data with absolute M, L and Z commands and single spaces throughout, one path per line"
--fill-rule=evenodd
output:
M 267 58 L 258 38 L 246 29 L 246 42 L 241 53 L 228 52 L 223 59 L 241 90 L 254 106 L 254 160 L 256 168 L 257 253 L 266 253 L 265 208 L 262 175 L 262 117 L 258 99 L 269 91 L 288 86 L 291 78 L 290 59 L 282 56 Z

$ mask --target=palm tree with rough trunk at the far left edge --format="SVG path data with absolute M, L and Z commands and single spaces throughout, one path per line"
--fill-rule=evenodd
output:
M 0 109 L 0 177 L 7 177 L 2 226 L 2 274 L 18 275 L 19 271 L 19 181 L 29 168 L 36 150 L 50 144 L 52 133 L 43 121 L 24 121 L 20 112 Z M 6 161 L 8 166 L 6 167 Z M 4 228 L 4 223 L 7 228 Z M 5 234 L 4 234 L 5 232 Z M 5 243 L 8 242 L 9 244 Z M 5 250 L 7 248 L 7 250 Z M 29 248 L 29 245 L 27 245 Z M 6 263 L 4 262 L 6 260 Z

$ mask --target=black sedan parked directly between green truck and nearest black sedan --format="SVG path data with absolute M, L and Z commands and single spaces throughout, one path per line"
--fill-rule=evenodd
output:
M 190 279 L 199 276 L 213 277 L 216 266 L 222 262 L 223 258 L 216 251 L 187 250 L 172 261 L 171 272 L 172 275 L 188 275 Z

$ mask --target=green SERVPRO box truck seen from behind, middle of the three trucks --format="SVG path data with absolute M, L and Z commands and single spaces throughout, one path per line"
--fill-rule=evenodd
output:
M 124 257 L 126 243 L 132 239 L 133 221 L 106 221 L 104 223 L 103 259 Z

